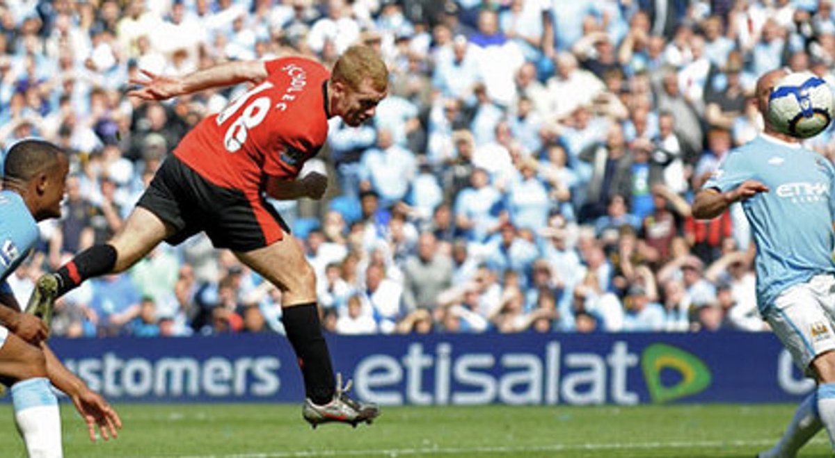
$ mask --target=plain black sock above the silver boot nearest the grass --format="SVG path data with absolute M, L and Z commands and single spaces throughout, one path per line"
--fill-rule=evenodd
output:
M 296 351 L 305 379 L 306 395 L 317 405 L 327 404 L 333 399 L 337 382 L 333 378 L 331 354 L 321 335 L 316 303 L 286 307 L 282 313 L 287 340 Z

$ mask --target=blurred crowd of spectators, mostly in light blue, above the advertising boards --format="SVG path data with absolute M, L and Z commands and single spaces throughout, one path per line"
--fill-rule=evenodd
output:
M 273 202 L 340 334 L 763 330 L 741 209 L 689 201 L 762 128 L 759 75 L 833 82 L 831 0 L 5 0 L 0 142 L 71 151 L 63 219 L 9 279 L 123 223 L 184 133 L 245 86 L 164 103 L 144 72 L 376 48 L 390 94 L 334 119 L 306 168 L 321 202 Z M 832 158 L 832 130 L 807 141 Z M 205 236 L 58 303 L 53 334 L 283 332 L 281 293 Z

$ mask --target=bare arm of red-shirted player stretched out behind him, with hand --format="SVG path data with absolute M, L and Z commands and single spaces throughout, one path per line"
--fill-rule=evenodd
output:
M 182 77 L 158 75 L 140 70 L 144 78 L 130 78 L 134 86 L 128 91 L 130 97 L 143 100 L 164 100 L 208 88 L 222 88 L 247 81 L 260 82 L 268 76 L 266 66 L 258 60 L 221 63 L 203 68 Z

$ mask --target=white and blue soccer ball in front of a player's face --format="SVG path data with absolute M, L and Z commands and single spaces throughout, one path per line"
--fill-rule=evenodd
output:
M 772 125 L 792 137 L 809 138 L 821 133 L 832 116 L 832 89 L 810 72 L 787 74 L 768 96 Z

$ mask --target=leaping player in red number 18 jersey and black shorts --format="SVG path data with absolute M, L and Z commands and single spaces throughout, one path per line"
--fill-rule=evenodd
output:
M 334 380 L 331 356 L 316 311 L 316 276 L 300 245 L 267 204 L 275 199 L 321 199 L 326 177 L 298 178 L 325 143 L 327 119 L 351 126 L 372 118 L 387 95 L 388 71 L 371 48 L 348 48 L 332 73 L 306 58 L 238 61 L 184 77 L 144 72 L 130 96 L 163 100 L 237 83 L 254 86 L 220 113 L 204 118 L 160 166 L 124 227 L 54 274 L 38 279 L 30 302 L 52 304 L 84 279 L 122 272 L 163 240 L 179 244 L 200 231 L 216 248 L 231 249 L 281 289 L 288 340 L 305 381 L 304 418 L 357 425 L 378 415 L 376 405 L 350 399 Z

